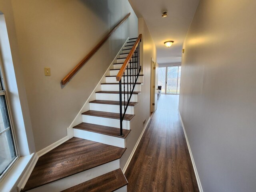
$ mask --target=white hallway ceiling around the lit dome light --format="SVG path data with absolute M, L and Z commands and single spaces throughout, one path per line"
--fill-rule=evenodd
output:
M 158 63 L 181 62 L 182 44 L 199 0 L 129 0 L 138 18 L 144 18 L 154 39 Z M 168 16 L 162 18 L 167 10 Z M 167 48 L 165 41 L 174 43 Z

